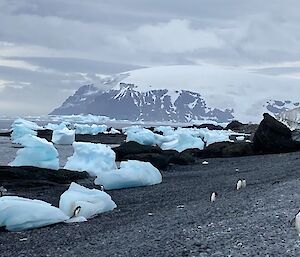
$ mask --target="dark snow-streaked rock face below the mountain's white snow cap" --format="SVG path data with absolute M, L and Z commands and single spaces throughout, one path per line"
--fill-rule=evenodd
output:
M 120 83 L 120 89 L 101 91 L 86 85 L 70 96 L 51 114 L 94 114 L 118 120 L 175 121 L 215 120 L 229 122 L 233 110 L 210 108 L 199 93 L 167 89 L 139 92 L 133 84 Z

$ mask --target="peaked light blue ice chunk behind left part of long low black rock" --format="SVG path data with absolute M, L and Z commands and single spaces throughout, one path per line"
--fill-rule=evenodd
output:
M 19 139 L 24 148 L 17 151 L 16 158 L 10 166 L 35 166 L 58 170 L 58 152 L 51 142 L 32 135 L 25 135 Z

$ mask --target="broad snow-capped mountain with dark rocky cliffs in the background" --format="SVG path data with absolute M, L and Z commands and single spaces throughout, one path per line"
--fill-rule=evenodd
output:
M 144 121 L 257 122 L 299 105 L 300 80 L 215 66 L 163 66 L 103 76 L 51 114 Z M 103 88 L 111 88 L 103 91 Z

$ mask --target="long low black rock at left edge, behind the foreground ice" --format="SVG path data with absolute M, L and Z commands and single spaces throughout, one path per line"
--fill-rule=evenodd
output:
M 0 166 L 0 185 L 12 188 L 37 187 L 55 184 L 69 184 L 73 181 L 87 179 L 87 172 L 70 170 L 50 170 L 32 166 L 10 167 Z

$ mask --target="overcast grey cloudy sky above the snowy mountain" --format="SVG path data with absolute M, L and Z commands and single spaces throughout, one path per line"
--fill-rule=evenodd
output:
M 163 65 L 300 79 L 298 0 L 0 0 L 0 115 L 51 112 L 81 85 Z

